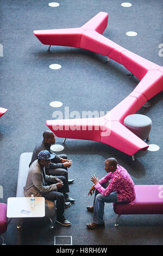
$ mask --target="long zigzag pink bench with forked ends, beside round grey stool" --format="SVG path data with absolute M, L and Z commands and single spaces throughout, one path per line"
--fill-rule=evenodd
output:
M 102 33 L 107 24 L 108 14 L 100 12 L 82 27 L 47 29 L 34 34 L 42 44 L 80 47 L 107 56 L 124 65 L 140 83 L 104 117 L 47 120 L 46 124 L 58 137 L 102 142 L 133 156 L 140 149 L 146 150 L 148 144 L 124 127 L 124 118 L 135 114 L 147 100 L 161 92 L 163 67 L 105 38 Z

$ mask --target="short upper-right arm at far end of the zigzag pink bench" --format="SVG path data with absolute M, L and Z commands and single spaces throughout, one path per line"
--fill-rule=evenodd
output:
M 91 20 L 86 22 L 81 28 L 85 30 L 94 30 L 99 34 L 102 34 L 108 25 L 108 13 L 101 11 L 95 15 Z

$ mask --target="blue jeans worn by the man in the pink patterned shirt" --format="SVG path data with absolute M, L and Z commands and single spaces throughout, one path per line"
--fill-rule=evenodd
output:
M 104 186 L 104 184 L 102 185 Z M 116 191 L 109 194 L 109 196 L 103 196 L 98 190 L 95 192 L 95 199 L 93 202 L 93 222 L 96 224 L 103 224 L 104 205 L 105 203 L 127 203 L 127 201 L 118 202 Z

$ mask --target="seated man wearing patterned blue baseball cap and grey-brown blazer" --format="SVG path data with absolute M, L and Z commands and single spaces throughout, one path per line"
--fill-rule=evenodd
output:
M 35 197 L 42 196 L 51 201 L 57 200 L 57 222 L 67 226 L 71 225 L 71 222 L 66 220 L 64 208 L 70 206 L 71 203 L 65 203 L 65 177 L 59 176 L 58 178 L 58 176 L 45 173 L 45 167 L 51 163 L 51 159 L 54 157 L 47 150 L 40 151 L 37 160 L 29 168 L 24 194 L 26 197 L 30 197 L 33 194 Z M 47 185 L 46 182 L 51 185 Z

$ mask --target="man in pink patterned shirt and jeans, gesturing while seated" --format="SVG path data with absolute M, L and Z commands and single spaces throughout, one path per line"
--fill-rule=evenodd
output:
M 87 206 L 87 210 L 93 212 L 93 222 L 86 225 L 89 229 L 105 226 L 103 220 L 105 203 L 134 204 L 135 185 L 127 170 L 117 164 L 117 160 L 112 157 L 105 161 L 105 171 L 108 174 L 101 180 L 98 180 L 94 174 L 91 176 L 93 185 L 89 194 L 92 196 L 95 192 L 95 198 L 93 206 Z

